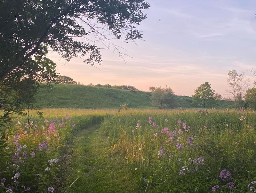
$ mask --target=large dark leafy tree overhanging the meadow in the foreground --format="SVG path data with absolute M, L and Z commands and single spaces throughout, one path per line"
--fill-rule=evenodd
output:
M 101 64 L 95 42 L 118 50 L 109 34 L 125 42 L 141 38 L 134 25 L 146 18 L 143 10 L 149 7 L 144 0 L 1 1 L 0 106 L 4 114 L 0 123 L 8 113 L 21 112 L 15 93 L 21 93 L 22 80 L 30 79 L 34 84 L 29 85 L 38 86 L 56 82 L 56 64 L 47 58 L 48 50 L 67 61 L 80 57 L 85 63 Z

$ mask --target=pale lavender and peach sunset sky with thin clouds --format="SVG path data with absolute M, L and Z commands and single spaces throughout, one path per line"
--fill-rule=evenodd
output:
M 142 91 L 167 86 L 185 96 L 209 82 L 228 98 L 227 73 L 234 69 L 244 72 L 253 87 L 255 78 L 248 70 L 256 70 L 256 1 L 146 2 L 151 7 L 137 28 L 143 38 L 135 43 L 112 40 L 125 62 L 113 47 L 101 50 L 102 65 L 95 67 L 50 53 L 57 72 L 84 85 L 131 85 Z

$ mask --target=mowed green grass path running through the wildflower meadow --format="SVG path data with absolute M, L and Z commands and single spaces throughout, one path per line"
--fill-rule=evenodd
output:
M 99 128 L 98 124 L 75 134 L 70 179 L 78 179 L 67 192 L 138 192 L 132 185 L 138 179 L 126 170 L 125 160 L 109 155 L 107 134 L 102 134 Z

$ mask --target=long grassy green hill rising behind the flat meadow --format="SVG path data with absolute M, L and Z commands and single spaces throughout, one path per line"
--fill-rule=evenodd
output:
M 83 85 L 54 85 L 53 89 L 41 88 L 36 96 L 37 105 L 42 108 L 121 108 L 128 103 L 128 108 L 154 108 L 151 93 L 128 91 L 113 88 L 89 87 Z M 192 98 L 176 96 L 177 108 L 197 108 L 192 105 Z M 233 102 L 218 100 L 215 108 L 232 108 Z

